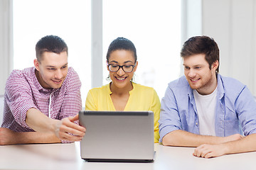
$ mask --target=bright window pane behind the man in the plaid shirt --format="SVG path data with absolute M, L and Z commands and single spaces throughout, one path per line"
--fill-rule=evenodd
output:
M 68 65 L 82 81 L 82 106 L 91 86 L 90 1 L 14 0 L 14 69 L 33 67 L 36 42 L 58 35 L 68 45 Z

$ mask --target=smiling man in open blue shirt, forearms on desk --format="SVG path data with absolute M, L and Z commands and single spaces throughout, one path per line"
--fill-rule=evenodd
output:
M 184 74 L 161 101 L 163 145 L 196 147 L 196 157 L 256 151 L 256 102 L 247 86 L 218 74 L 212 38 L 189 38 L 181 50 Z

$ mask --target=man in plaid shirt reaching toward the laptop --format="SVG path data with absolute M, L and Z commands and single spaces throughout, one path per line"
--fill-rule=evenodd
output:
M 82 140 L 81 82 L 68 68 L 68 46 L 55 35 L 41 38 L 34 65 L 14 70 L 6 81 L 0 145 Z

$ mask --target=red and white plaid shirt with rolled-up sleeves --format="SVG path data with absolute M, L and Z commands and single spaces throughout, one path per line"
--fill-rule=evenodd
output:
M 68 69 L 67 77 L 59 89 L 43 89 L 36 78 L 35 69 L 14 70 L 7 79 L 2 128 L 33 132 L 25 122 L 26 112 L 30 108 L 36 108 L 58 120 L 74 116 L 82 110 L 81 82 L 72 67 Z

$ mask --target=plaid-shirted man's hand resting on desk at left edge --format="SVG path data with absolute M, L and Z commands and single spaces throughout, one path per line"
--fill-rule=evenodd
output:
M 0 128 L 0 145 L 14 145 L 16 142 L 16 132 L 7 128 Z

